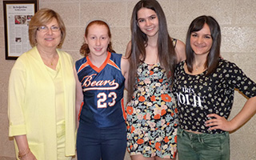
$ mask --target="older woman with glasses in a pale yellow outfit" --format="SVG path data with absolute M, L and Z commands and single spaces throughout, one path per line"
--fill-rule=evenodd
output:
M 75 154 L 73 60 L 57 49 L 65 36 L 54 10 L 38 10 L 29 26 L 33 48 L 11 70 L 9 135 L 19 159 L 60 160 Z

